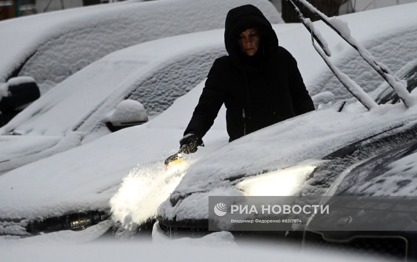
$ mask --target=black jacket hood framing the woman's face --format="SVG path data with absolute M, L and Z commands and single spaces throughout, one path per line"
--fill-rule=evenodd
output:
M 278 38 L 271 23 L 254 5 L 241 5 L 227 13 L 224 30 L 224 45 L 233 64 L 244 72 L 271 67 L 278 54 Z M 249 28 L 261 31 L 259 50 L 250 57 L 240 50 L 238 40 L 241 32 Z M 275 61 L 274 61 L 275 60 Z

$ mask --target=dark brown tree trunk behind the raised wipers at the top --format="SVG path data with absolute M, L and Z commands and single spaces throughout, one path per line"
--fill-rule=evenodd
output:
M 332 17 L 339 15 L 340 6 L 347 2 L 347 0 L 308 0 L 308 2 L 328 17 Z M 297 1 L 294 1 L 294 3 L 306 18 L 310 18 L 311 21 L 319 20 L 319 18 L 313 15 L 313 13 L 306 7 L 299 4 Z M 284 19 L 286 23 L 300 22 L 298 20 L 298 16 L 294 10 L 292 10 L 291 5 L 287 2 L 287 0 L 281 0 L 281 6 L 282 19 Z

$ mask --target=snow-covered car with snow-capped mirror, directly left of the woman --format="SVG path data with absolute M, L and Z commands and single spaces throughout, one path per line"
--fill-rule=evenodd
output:
M 68 77 L 0 128 L 0 174 L 107 135 L 115 125 L 153 119 L 206 77 L 226 52 L 221 34 L 145 42 Z

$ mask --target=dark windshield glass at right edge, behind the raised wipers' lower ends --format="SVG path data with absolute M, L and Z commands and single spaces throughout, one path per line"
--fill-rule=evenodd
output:
M 412 92 L 417 86 L 417 58 L 402 67 L 396 75 L 407 83 L 408 92 Z M 374 90 L 371 96 L 378 105 L 387 103 L 395 104 L 399 101 L 397 93 L 394 92 L 387 82 L 384 82 Z

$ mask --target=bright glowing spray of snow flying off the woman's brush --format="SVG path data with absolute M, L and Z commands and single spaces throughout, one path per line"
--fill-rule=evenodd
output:
M 156 217 L 156 210 L 185 175 L 186 161 L 166 169 L 163 162 L 139 164 L 123 178 L 110 200 L 112 219 L 133 229 Z

